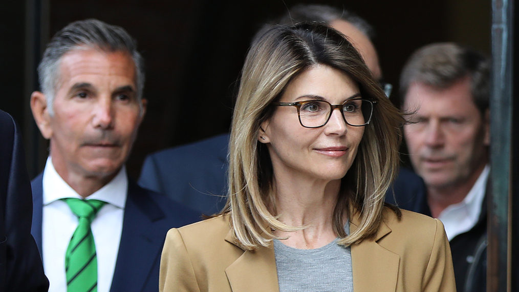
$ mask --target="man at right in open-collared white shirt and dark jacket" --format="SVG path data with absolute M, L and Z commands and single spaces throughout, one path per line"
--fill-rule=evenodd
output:
M 414 211 L 445 225 L 457 290 L 485 291 L 488 59 L 453 43 L 422 47 L 404 66 L 400 93 L 411 162 L 427 188 L 412 198 Z

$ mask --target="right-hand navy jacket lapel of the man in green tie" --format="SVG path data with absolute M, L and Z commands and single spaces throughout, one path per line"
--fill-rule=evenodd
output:
M 154 279 L 149 271 L 160 260 L 165 238 L 163 229 L 154 224 L 164 217 L 152 198 L 129 181 L 112 291 L 141 291 L 148 278 L 158 281 L 158 274 Z

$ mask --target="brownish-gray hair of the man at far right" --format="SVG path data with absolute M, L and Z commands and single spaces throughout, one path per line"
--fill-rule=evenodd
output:
M 400 96 L 412 83 L 446 89 L 460 79 L 470 77 L 470 91 L 482 114 L 490 97 L 490 62 L 480 52 L 454 43 L 436 43 L 421 47 L 411 55 L 400 76 Z

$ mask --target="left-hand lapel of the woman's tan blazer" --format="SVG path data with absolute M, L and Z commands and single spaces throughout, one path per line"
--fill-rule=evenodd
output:
M 234 244 L 231 233 L 225 240 Z M 236 245 L 236 244 L 235 244 Z M 279 291 L 274 248 L 245 250 L 227 269 L 227 280 L 233 291 Z

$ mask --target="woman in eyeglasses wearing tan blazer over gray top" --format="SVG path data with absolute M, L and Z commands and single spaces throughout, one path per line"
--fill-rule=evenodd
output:
M 272 26 L 242 70 L 220 215 L 168 232 L 163 291 L 455 291 L 442 223 L 386 206 L 399 111 L 344 35 Z

